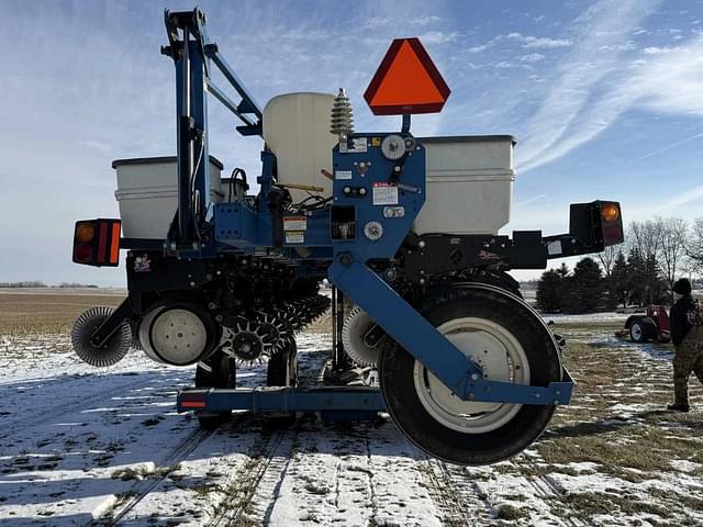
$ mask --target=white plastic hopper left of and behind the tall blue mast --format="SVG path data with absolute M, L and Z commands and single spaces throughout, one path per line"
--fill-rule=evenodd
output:
M 120 205 L 122 236 L 164 239 L 178 209 L 176 157 L 141 157 L 112 161 L 118 172 L 114 193 Z M 210 156 L 210 200 L 223 201 L 222 162 Z

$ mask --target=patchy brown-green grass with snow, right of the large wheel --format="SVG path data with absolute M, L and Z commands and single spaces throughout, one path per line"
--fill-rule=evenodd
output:
M 563 359 L 577 382 L 572 405 L 558 410 L 535 445 L 545 464 L 534 473 L 532 463 L 520 460 L 507 472 L 578 478 L 579 471 L 569 463 L 592 462 L 602 485 L 589 489 L 585 484 L 566 493 L 563 503 L 551 504 L 553 514 L 584 520 L 612 515 L 628 525 L 631 520 L 636 525 L 637 516 L 651 515 L 647 516 L 651 525 L 695 525 L 690 512 L 703 509 L 703 495 L 679 481 L 682 474 L 671 462 L 703 463 L 701 412 L 666 412 L 673 382 L 671 363 L 661 358 L 671 349 L 624 345 L 610 338 L 617 328 L 613 324 L 554 326 L 567 337 Z M 695 408 L 703 392 L 693 378 L 690 391 Z M 695 478 L 696 472 L 688 476 Z

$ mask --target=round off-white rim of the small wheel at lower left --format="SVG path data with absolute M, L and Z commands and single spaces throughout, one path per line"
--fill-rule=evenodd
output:
M 168 310 L 156 316 L 150 327 L 154 351 L 171 363 L 193 362 L 205 349 L 208 328 L 192 311 Z

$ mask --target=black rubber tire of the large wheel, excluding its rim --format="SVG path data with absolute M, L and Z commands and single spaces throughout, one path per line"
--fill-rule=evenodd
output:
M 532 385 L 561 380 L 559 349 L 539 315 L 527 304 L 496 288 L 461 284 L 422 303 L 434 325 L 459 317 L 480 317 L 510 328 L 523 346 Z M 444 426 L 422 405 L 414 385 L 415 359 L 400 345 L 381 352 L 380 383 L 388 412 L 405 437 L 433 457 L 457 464 L 488 464 L 514 456 L 535 441 L 555 412 L 553 405 L 523 405 L 500 428 L 465 434 Z

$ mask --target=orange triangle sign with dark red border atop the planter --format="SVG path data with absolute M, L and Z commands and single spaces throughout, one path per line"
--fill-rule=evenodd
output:
M 364 99 L 375 115 L 434 113 L 450 92 L 420 38 L 395 38 Z

